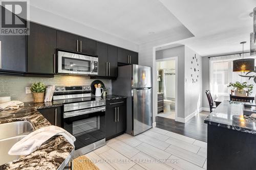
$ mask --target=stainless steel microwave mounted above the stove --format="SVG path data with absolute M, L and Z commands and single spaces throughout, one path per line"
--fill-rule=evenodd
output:
M 98 75 L 98 57 L 58 50 L 58 73 Z

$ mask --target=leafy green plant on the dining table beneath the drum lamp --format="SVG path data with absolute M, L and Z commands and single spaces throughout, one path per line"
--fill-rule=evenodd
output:
M 247 92 L 247 95 L 250 95 L 252 93 L 253 85 L 247 84 L 247 82 L 243 82 L 243 83 L 236 82 L 236 83 L 229 83 L 227 87 L 232 87 L 232 89 L 234 89 L 234 95 L 246 96 L 246 92 Z

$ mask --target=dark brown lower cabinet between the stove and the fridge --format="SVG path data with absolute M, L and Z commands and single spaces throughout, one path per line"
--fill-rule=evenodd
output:
M 126 130 L 126 99 L 106 101 L 106 140 Z

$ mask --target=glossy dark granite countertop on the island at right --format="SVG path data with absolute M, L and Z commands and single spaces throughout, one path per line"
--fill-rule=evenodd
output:
M 241 132 L 256 134 L 256 119 L 244 118 L 243 104 L 245 103 L 236 101 L 223 101 L 204 119 L 204 123 Z

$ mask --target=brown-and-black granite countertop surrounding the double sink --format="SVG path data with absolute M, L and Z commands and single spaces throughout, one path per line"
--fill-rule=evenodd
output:
M 37 109 L 62 106 L 57 102 L 24 103 L 18 110 L 0 110 L 0 124 L 27 120 L 35 129 L 50 126 Z M 0 169 L 63 169 L 71 159 L 74 147 L 63 136 L 54 136 L 30 155 L 0 165 Z

